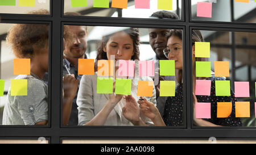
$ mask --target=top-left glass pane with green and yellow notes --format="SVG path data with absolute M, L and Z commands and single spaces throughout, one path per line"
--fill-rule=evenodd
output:
M 17 1 L 8 0 L 0 2 L 0 13 L 1 14 L 33 14 L 30 11 L 45 9 L 49 10 L 50 0 L 40 0 L 40 1 Z M 44 15 L 42 12 L 37 12 L 37 14 Z M 49 15 L 48 12 L 46 15 Z

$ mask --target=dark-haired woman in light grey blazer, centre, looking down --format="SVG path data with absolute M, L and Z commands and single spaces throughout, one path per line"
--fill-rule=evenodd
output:
M 104 36 L 97 50 L 97 60 L 139 60 L 139 31 L 129 28 Z M 136 67 L 136 65 L 135 65 Z M 118 70 L 115 66 L 114 73 Z M 135 69 L 137 70 L 137 69 Z M 152 125 L 150 119 L 140 114 L 136 100 L 138 79 L 132 79 L 131 95 L 97 94 L 97 73 L 94 76 L 82 76 L 77 95 L 79 125 Z M 116 76 L 115 76 L 116 77 Z M 152 81 L 150 77 L 139 80 Z M 115 81 L 115 79 L 114 79 Z M 113 84 L 115 88 L 115 82 Z M 114 89 L 113 89 L 114 92 Z M 155 89 L 153 96 L 147 98 L 156 104 Z

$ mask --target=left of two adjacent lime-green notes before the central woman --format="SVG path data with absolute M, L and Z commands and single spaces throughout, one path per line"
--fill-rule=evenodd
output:
M 113 78 L 98 77 L 97 78 L 98 94 L 113 94 Z

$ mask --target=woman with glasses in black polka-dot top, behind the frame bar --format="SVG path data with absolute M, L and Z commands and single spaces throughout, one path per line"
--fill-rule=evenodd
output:
M 146 99 L 139 100 L 142 114 L 154 122 L 155 125 L 181 126 L 183 121 L 183 51 L 182 51 L 182 31 L 171 30 L 167 36 L 167 48 L 164 49 L 164 55 L 169 60 L 175 60 L 176 87 L 175 97 L 168 97 L 164 108 L 163 119 L 159 116 L 159 112 L 152 106 L 152 103 Z M 225 80 L 224 77 L 197 78 L 196 77 L 196 61 L 205 61 L 205 58 L 195 57 L 195 42 L 204 42 L 203 36 L 199 30 L 192 31 L 192 81 L 193 81 L 193 123 L 197 126 L 218 127 L 218 126 L 241 126 L 241 120 L 236 118 L 234 114 L 234 102 L 237 99 L 232 92 L 230 97 L 216 97 L 215 81 Z M 207 79 L 212 81 L 210 96 L 195 96 L 196 79 Z M 211 118 L 197 119 L 195 111 L 195 103 L 206 102 L 211 103 Z M 217 118 L 217 102 L 232 102 L 232 113 L 228 118 Z

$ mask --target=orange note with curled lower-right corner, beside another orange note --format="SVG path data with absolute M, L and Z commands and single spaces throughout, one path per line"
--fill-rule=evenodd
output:
M 232 102 L 217 102 L 217 118 L 228 118 L 232 112 Z

